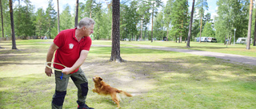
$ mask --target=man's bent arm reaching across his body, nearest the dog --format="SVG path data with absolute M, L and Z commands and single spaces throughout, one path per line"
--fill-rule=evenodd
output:
M 83 64 L 83 62 L 86 60 L 88 53 L 89 53 L 89 51 L 82 50 L 78 60 L 74 63 L 74 65 L 71 68 L 62 69 L 62 72 L 64 74 L 68 75 L 68 74 L 70 74 L 70 72 L 73 72 L 75 69 L 79 68 Z

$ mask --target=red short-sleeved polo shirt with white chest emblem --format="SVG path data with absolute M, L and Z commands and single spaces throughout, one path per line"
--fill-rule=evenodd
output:
M 63 64 L 69 68 L 78 60 L 81 51 L 89 51 L 91 45 L 90 37 L 82 37 L 81 41 L 78 42 L 75 37 L 75 29 L 62 30 L 54 38 L 54 44 L 58 46 L 58 49 L 55 52 L 54 62 Z M 54 64 L 54 68 L 63 69 L 64 67 Z M 78 72 L 78 69 L 74 72 Z

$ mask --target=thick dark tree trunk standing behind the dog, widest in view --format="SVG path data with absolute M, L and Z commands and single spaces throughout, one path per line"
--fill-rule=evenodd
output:
M 124 62 L 120 56 L 120 0 L 113 0 L 113 10 L 112 10 L 112 22 L 113 22 L 113 32 L 112 32 L 112 50 L 110 61 Z

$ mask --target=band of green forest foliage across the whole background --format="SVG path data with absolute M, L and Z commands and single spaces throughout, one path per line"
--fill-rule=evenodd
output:
M 22 0 L 22 5 L 14 5 L 14 27 L 16 37 L 41 37 L 47 36 L 54 38 L 58 34 L 57 13 L 54 7 L 57 4 L 54 0 L 48 1 L 46 10 L 38 8 L 34 10 L 29 0 Z M 78 21 L 82 18 L 94 18 L 94 39 L 111 38 L 112 28 L 112 2 L 106 2 L 106 8 L 102 2 L 98 0 L 86 0 L 86 3 L 79 2 Z M 154 5 L 153 5 L 154 4 Z M 218 0 L 218 16 L 215 16 L 214 22 L 210 19 L 210 14 L 205 15 L 208 10 L 207 0 L 198 0 L 196 2 L 196 10 L 194 14 L 194 22 L 192 25 L 192 40 L 200 32 L 201 15 L 202 15 L 202 33 L 211 31 L 210 28 L 204 27 L 206 22 L 213 22 L 213 28 L 216 29 L 214 37 L 218 41 L 224 41 L 225 37 L 234 35 L 236 30 L 236 39 L 238 37 L 246 37 L 248 26 L 248 10 L 249 0 Z M 163 36 L 167 36 L 168 40 L 177 40 L 182 37 L 185 40 L 188 33 L 190 12 L 186 0 L 167 0 L 166 6 L 162 6 L 162 0 L 123 0 L 120 5 L 120 38 L 133 39 L 141 36 L 147 40 L 151 38 L 151 18 L 153 16 L 154 37 L 162 40 Z M 154 7 L 154 12 L 153 12 Z M 62 8 L 62 7 L 60 7 Z M 74 28 L 74 10 L 70 10 L 70 6 L 66 5 L 65 10 L 60 14 L 60 29 Z M 158 9 L 162 8 L 162 12 Z M 11 37 L 10 29 L 10 13 L 9 1 L 2 0 L 3 9 L 3 25 L 4 34 Z M 73 11 L 73 12 L 72 12 Z M 255 14 L 255 12 L 253 13 Z M 143 19 L 142 19 L 143 18 Z M 254 18 L 253 25 L 254 28 Z M 142 25 L 142 26 L 141 26 Z M 142 28 L 141 28 L 142 27 Z M 2 29 L 0 29 L 2 31 Z M 210 32 L 207 32 L 210 33 Z M 212 34 L 212 33 L 211 33 Z M 254 30 L 252 30 L 252 36 Z

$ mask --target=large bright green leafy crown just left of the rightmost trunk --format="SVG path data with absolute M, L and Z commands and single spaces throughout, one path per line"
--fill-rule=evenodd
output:
M 250 2 L 248 0 L 219 0 L 218 17 L 215 18 L 215 29 L 218 31 L 216 37 L 224 42 L 225 37 L 234 35 L 236 29 L 236 39 L 246 37 L 248 29 L 248 10 Z

